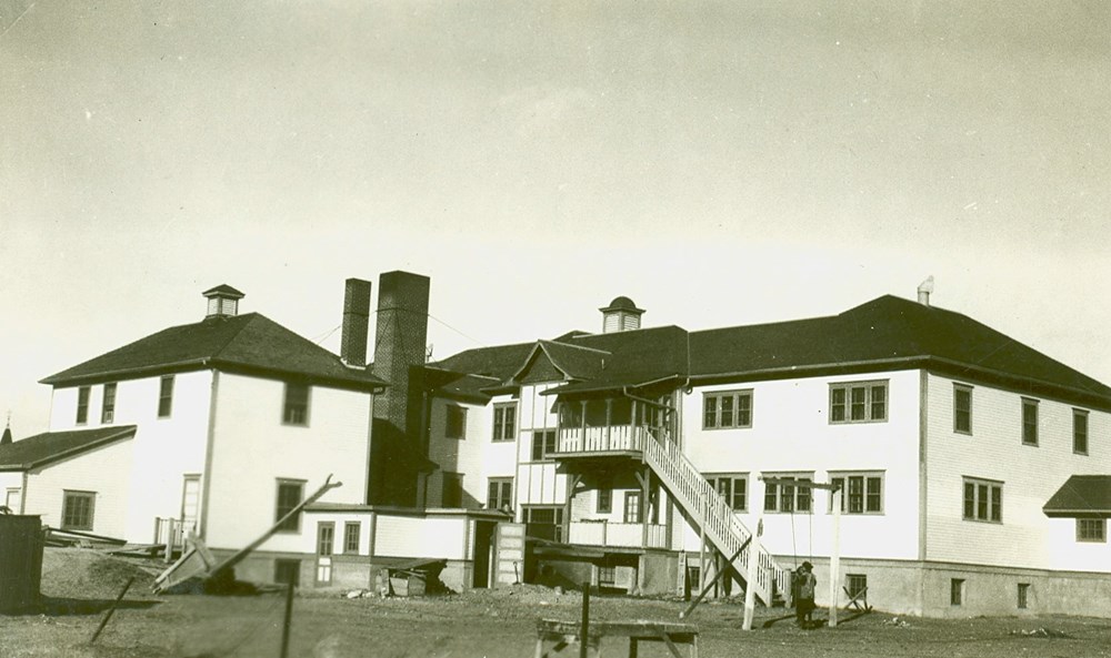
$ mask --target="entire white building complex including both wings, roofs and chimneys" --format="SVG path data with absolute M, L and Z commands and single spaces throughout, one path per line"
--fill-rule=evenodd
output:
M 341 356 L 207 295 L 202 322 L 44 379 L 50 432 L 0 446 L 9 506 L 136 541 L 172 518 L 230 551 L 333 474 L 241 576 L 371 586 L 426 558 L 454 589 L 653 594 L 755 560 L 769 603 L 802 560 L 829 574 L 837 534 L 840 605 L 1111 615 L 1111 388 L 928 295 L 693 332 L 618 297 L 600 333 L 426 363 L 429 281 L 393 272 L 369 366 L 369 283 Z

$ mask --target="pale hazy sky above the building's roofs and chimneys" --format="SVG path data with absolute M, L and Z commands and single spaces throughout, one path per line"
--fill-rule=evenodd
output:
M 227 283 L 338 351 L 429 275 L 433 357 L 970 315 L 1111 384 L 1111 3 L 0 0 L 0 413 Z

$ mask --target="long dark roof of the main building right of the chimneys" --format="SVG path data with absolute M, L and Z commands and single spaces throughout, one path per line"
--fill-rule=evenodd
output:
M 1111 408 L 1111 387 L 952 311 L 884 295 L 839 315 L 687 332 L 677 326 L 570 333 L 559 343 L 609 352 L 594 376 L 553 389 L 613 389 L 668 377 L 713 383 L 925 367 Z M 470 350 L 440 367 L 508 381 L 536 344 Z M 480 370 L 471 370 L 471 368 Z

